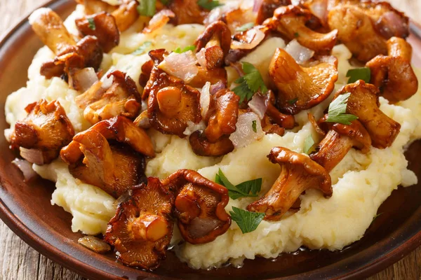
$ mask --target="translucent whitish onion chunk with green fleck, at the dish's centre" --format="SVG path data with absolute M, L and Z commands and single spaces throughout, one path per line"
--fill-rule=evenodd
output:
M 256 132 L 253 131 L 253 121 L 256 123 Z M 254 141 L 262 139 L 265 132 L 262 131 L 260 119 L 255 113 L 243 113 L 239 116 L 236 123 L 236 131 L 229 136 L 235 148 L 243 148 Z

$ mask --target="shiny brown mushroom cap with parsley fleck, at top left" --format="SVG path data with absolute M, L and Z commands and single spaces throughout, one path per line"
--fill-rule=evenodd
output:
M 90 20 L 94 22 L 95 28 L 91 28 Z M 116 20 L 109 13 L 97 13 L 87 15 L 75 21 L 76 27 L 82 36 L 95 36 L 104 50 L 109 52 L 112 48 L 119 45 L 120 32 L 116 25 Z

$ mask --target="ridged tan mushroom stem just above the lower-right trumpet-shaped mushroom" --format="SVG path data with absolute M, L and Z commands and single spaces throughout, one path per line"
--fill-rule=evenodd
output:
M 320 142 L 318 146 L 320 150 L 310 155 L 310 158 L 330 172 L 345 158 L 352 146 L 354 146 L 354 141 L 351 138 L 330 130 Z

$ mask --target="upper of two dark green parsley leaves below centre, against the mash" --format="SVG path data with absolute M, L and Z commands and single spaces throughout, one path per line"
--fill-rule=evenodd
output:
M 246 181 L 234 186 L 221 169 L 215 175 L 215 182 L 227 188 L 228 195 L 233 200 L 241 197 L 257 197 L 258 193 L 260 193 L 260 188 L 262 188 L 262 178 Z

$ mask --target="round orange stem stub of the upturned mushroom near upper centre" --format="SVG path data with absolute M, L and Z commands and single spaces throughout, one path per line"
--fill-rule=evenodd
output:
M 176 115 L 182 107 L 182 91 L 177 87 L 164 87 L 156 94 L 159 110 L 167 117 Z

